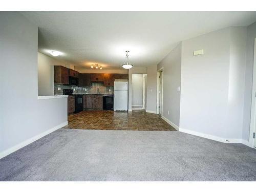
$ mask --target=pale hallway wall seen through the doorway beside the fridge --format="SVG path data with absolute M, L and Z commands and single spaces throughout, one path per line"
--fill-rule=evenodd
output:
M 143 106 L 143 74 L 132 74 L 132 106 Z

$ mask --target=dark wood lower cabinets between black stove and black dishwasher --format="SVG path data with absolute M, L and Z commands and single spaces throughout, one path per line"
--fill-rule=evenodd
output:
M 83 109 L 103 110 L 102 95 L 84 95 Z

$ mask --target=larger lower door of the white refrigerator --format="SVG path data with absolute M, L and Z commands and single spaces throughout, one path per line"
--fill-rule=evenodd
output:
M 114 91 L 114 111 L 128 110 L 128 94 L 127 91 Z

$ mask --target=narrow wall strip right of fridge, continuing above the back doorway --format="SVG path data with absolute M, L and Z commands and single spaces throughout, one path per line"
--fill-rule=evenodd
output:
M 132 111 L 132 74 L 140 73 L 140 74 L 146 74 L 147 73 L 146 67 L 133 67 L 129 70 L 129 91 L 128 91 L 128 111 Z

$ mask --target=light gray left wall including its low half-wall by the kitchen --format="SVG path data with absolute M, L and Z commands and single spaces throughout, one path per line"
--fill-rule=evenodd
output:
M 67 123 L 67 98 L 38 100 L 37 26 L 0 12 L 0 158 L 33 137 Z

